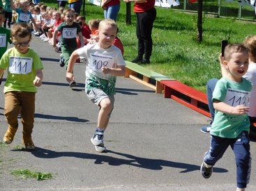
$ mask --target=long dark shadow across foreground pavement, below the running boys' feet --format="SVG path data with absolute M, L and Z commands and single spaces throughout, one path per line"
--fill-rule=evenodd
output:
M 24 149 L 13 149 L 12 151 L 25 151 Z M 188 163 L 177 163 L 168 160 L 161 159 L 151 159 L 151 158 L 141 158 L 137 156 L 133 156 L 127 153 L 119 153 L 116 151 L 107 150 L 107 153 L 113 153 L 116 156 L 124 156 L 128 159 L 116 158 L 113 156 L 107 156 L 107 153 L 104 154 L 93 154 L 93 153 L 80 153 L 80 152 L 57 152 L 49 149 L 43 149 L 40 147 L 36 147 L 36 150 L 31 151 L 33 156 L 37 158 L 59 158 L 59 157 L 75 157 L 75 158 L 84 158 L 84 159 L 92 159 L 95 160 L 96 165 L 108 163 L 112 166 L 120 166 L 120 165 L 130 165 L 133 167 L 144 168 L 144 169 L 152 169 L 152 170 L 160 170 L 163 167 L 174 167 L 183 169 L 180 173 L 193 172 L 196 170 L 200 170 L 200 166 L 191 165 Z M 213 168 L 213 172 L 225 173 L 227 169 Z

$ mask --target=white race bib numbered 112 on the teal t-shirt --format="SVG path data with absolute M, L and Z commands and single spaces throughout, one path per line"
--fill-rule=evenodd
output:
M 234 90 L 231 88 L 227 89 L 227 94 L 225 98 L 225 103 L 227 103 L 229 106 L 248 106 L 249 102 L 249 94 L 250 92 L 243 91 L 243 90 Z

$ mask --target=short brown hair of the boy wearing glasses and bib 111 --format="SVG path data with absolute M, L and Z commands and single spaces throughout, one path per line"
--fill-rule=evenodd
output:
M 26 22 L 17 22 L 10 28 L 11 38 L 31 38 L 31 27 Z

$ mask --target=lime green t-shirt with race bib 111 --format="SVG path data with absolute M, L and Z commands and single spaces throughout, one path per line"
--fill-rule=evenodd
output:
M 19 53 L 15 47 L 8 49 L 0 60 L 0 68 L 8 69 L 3 92 L 22 91 L 37 92 L 33 80 L 36 69 L 43 69 L 38 53 L 29 49 L 27 53 Z

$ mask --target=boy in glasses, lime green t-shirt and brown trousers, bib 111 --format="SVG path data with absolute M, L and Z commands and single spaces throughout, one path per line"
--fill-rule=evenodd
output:
M 43 63 L 38 53 L 30 49 L 31 28 L 25 22 L 16 23 L 10 29 L 10 37 L 15 47 L 8 49 L 0 60 L 0 76 L 8 69 L 4 85 L 4 115 L 8 129 L 3 142 L 10 144 L 18 128 L 17 116 L 22 117 L 22 140 L 26 149 L 33 150 L 31 134 L 33 115 L 35 113 L 35 97 L 37 89 L 42 85 Z

